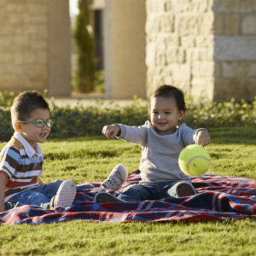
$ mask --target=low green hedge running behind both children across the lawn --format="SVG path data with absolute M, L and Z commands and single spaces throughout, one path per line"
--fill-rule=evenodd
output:
M 187 101 L 188 112 L 184 122 L 192 128 L 256 125 L 256 97 L 251 103 L 241 102 L 204 102 L 200 106 Z M 129 105 L 116 104 L 102 108 L 102 102 L 96 107 L 84 108 L 77 104 L 75 108 L 58 107 L 52 103 L 51 117 L 55 121 L 50 137 L 82 137 L 102 134 L 103 125 L 123 123 L 125 125 L 143 125 L 148 119 L 148 107 L 141 99 L 134 99 Z M 9 108 L 0 108 L 0 140 L 7 141 L 13 134 Z

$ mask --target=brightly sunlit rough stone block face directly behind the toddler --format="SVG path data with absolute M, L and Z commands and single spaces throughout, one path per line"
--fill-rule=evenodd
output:
M 147 0 L 146 9 L 148 96 L 166 83 L 212 98 L 214 16 L 209 1 Z

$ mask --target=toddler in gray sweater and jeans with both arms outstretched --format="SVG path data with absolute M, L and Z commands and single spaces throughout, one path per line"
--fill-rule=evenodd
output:
M 211 139 L 206 129 L 179 125 L 186 105 L 183 91 L 171 85 L 158 87 L 149 102 L 150 122 L 141 126 L 106 125 L 102 133 L 142 146 L 139 170 L 142 181 L 125 188 L 118 197 L 108 192 L 96 195 L 96 202 L 157 200 L 166 196 L 195 195 L 191 180 L 181 172 L 177 159 L 189 144 L 206 146 Z M 116 166 L 102 188 L 117 190 L 127 177 L 125 166 Z

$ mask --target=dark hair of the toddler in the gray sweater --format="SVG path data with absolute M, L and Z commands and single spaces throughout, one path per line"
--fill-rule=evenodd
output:
M 164 97 L 164 98 L 173 98 L 177 104 L 178 110 L 186 111 L 186 103 L 184 100 L 183 91 L 174 87 L 172 85 L 162 84 L 156 90 L 154 90 L 152 97 Z M 150 111 L 150 102 L 149 102 L 149 111 Z

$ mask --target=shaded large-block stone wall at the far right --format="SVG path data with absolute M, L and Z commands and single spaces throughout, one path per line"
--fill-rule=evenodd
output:
M 212 3 L 219 29 L 214 38 L 218 73 L 214 98 L 227 100 L 256 95 L 256 1 L 215 0 Z

